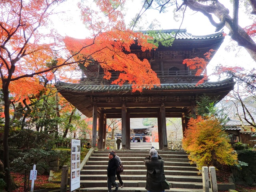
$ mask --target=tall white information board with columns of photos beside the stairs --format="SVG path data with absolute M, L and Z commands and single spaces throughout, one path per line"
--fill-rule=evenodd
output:
M 80 188 L 80 140 L 71 140 L 70 191 Z

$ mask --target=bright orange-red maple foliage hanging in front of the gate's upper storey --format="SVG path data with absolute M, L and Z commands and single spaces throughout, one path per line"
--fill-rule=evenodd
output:
M 144 87 L 150 89 L 154 85 L 160 85 L 148 60 L 141 61 L 135 54 L 126 54 L 130 52 L 130 46 L 135 43 L 134 39 L 142 46 L 142 50 L 152 49 L 152 45 L 142 38 L 142 34 L 130 30 L 113 29 L 84 40 L 66 37 L 64 42 L 71 53 L 79 53 L 75 58 L 76 61 L 87 61 L 85 67 L 92 63 L 92 59 L 98 62 L 104 69 L 104 78 L 111 78 L 110 70 L 120 71 L 119 78 L 112 84 L 122 85 L 128 82 L 133 84 L 133 91 L 142 91 Z

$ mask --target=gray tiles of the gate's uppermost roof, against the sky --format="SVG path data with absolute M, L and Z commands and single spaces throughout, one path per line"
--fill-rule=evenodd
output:
M 218 32 L 218 33 L 215 33 L 215 34 L 208 34 L 208 35 L 192 35 L 190 33 L 187 33 L 187 30 L 186 29 L 166 29 L 166 30 L 156 30 L 156 31 L 159 31 L 159 32 L 162 32 L 162 33 L 166 33 L 166 34 L 170 34 L 172 37 L 175 37 L 175 34 L 177 33 L 176 35 L 176 39 L 210 39 L 210 38 L 218 38 L 218 37 L 222 37 L 223 36 L 223 33 L 222 32 Z M 144 34 L 147 34 L 148 30 L 142 30 L 140 31 Z M 175 34 L 173 34 L 175 33 Z

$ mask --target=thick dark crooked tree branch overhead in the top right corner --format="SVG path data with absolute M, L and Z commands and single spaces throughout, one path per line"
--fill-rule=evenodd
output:
M 176 11 L 180 11 L 184 6 L 187 6 L 190 10 L 201 12 L 208 18 L 210 23 L 216 27 L 216 32 L 222 30 L 222 28 L 226 26 L 229 29 L 228 34 L 230 37 L 235 40 L 239 46 L 243 46 L 250 56 L 256 61 L 256 43 L 238 23 L 239 9 L 243 5 L 240 5 L 239 7 L 239 0 L 233 0 L 233 4 L 231 4 L 233 7 L 233 15 L 230 15 L 228 8 L 221 3 L 224 1 L 226 2 L 228 0 L 154 0 L 154 2 L 151 0 L 151 4 L 146 8 L 144 7 L 144 9 L 161 8 L 162 10 L 164 9 L 163 6 L 165 6 L 165 10 L 170 10 L 171 6 L 175 4 Z M 145 2 L 148 2 L 148 0 L 145 0 Z M 168 2 L 168 4 L 166 4 L 166 2 Z M 256 15 L 256 0 L 248 0 L 247 5 L 250 10 L 252 10 L 251 14 Z M 214 20 L 214 17 L 218 19 Z M 196 22 L 200 22 L 200 20 L 197 20 Z M 252 19 L 252 24 L 253 22 L 254 20 Z

